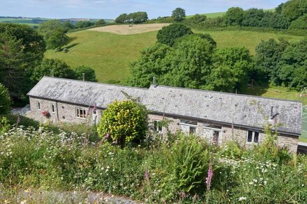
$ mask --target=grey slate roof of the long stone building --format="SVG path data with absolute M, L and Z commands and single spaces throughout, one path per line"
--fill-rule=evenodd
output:
M 273 112 L 279 132 L 301 134 L 301 102 L 251 95 L 202 91 L 170 86 L 135 88 L 88 81 L 43 77 L 29 96 L 105 109 L 114 100 L 124 100 L 122 91 L 139 97 L 147 109 L 156 113 L 197 118 L 235 126 L 261 129 Z

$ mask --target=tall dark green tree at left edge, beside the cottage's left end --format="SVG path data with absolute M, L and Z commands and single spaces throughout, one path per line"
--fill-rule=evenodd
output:
M 0 24 L 0 83 L 15 100 L 25 100 L 32 86 L 29 76 L 44 52 L 43 37 L 29 26 Z

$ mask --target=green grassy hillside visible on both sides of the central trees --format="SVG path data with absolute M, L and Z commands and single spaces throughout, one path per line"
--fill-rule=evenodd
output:
M 301 37 L 253 31 L 195 31 L 210 33 L 218 47 L 245 46 L 255 54 L 255 46 L 261 40 L 285 38 L 298 41 Z M 123 80 L 129 75 L 128 64 L 140 56 L 140 51 L 156 42 L 157 31 L 121 36 L 114 33 L 79 31 L 70 33 L 74 38 L 68 45 L 69 52 L 49 50 L 47 58 L 59 58 L 75 68 L 87 65 L 94 68 L 98 81 Z

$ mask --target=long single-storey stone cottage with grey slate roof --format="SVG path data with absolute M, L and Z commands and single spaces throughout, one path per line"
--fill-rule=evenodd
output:
M 195 133 L 218 145 L 236 140 L 242 146 L 261 143 L 263 127 L 279 124 L 278 143 L 297 152 L 301 134 L 301 102 L 251 95 L 155 86 L 135 88 L 89 81 L 43 77 L 28 93 L 30 118 L 54 123 L 98 123 L 114 100 L 138 97 L 151 114 L 153 131 L 165 134 L 159 123 L 169 120 L 171 132 Z M 93 111 L 95 107 L 95 111 Z M 91 114 L 88 110 L 91 109 Z

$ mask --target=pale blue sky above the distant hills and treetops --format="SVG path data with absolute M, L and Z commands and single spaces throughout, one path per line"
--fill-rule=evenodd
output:
M 110 18 L 121 13 L 146 11 L 149 18 L 170 16 L 174 8 L 186 15 L 216 13 L 232 6 L 241 8 L 276 8 L 278 0 L 0 0 L 0 16 L 59 18 Z

